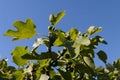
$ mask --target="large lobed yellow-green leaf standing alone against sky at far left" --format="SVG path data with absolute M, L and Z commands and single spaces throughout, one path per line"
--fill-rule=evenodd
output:
M 21 39 L 30 39 L 36 34 L 36 27 L 31 19 L 27 19 L 26 22 L 16 21 L 13 26 L 17 30 L 9 29 L 4 36 L 13 37 L 12 41 Z

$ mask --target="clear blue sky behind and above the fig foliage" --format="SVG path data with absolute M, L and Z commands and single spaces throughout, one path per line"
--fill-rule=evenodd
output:
M 75 27 L 84 32 L 89 26 L 101 26 L 103 31 L 99 35 L 108 45 L 100 45 L 98 50 L 107 53 L 108 62 L 120 58 L 120 0 L 0 0 L 0 59 L 8 57 L 12 65 L 10 52 L 14 47 L 32 46 L 34 42 L 35 38 L 12 42 L 12 38 L 3 36 L 7 29 L 14 29 L 14 21 L 32 18 L 37 32 L 47 34 L 49 14 L 62 10 L 66 11 L 66 16 L 57 28 L 68 31 Z M 99 60 L 96 63 L 102 64 Z

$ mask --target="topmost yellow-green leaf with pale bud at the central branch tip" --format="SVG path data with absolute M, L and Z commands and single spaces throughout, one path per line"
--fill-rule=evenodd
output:
M 49 17 L 49 21 L 51 25 L 56 25 L 65 15 L 65 11 L 59 12 L 56 16 L 54 14 L 51 14 Z

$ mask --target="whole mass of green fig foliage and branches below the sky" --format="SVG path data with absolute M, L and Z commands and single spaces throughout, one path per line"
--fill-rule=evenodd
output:
M 64 15 L 64 11 L 56 16 L 50 15 L 48 36 L 37 38 L 32 50 L 28 46 L 15 47 L 11 55 L 19 68 L 8 66 L 7 59 L 1 60 L 0 77 L 8 80 L 119 80 L 120 59 L 110 64 L 104 51 L 94 52 L 99 43 L 107 44 L 101 36 L 94 35 L 102 28 L 90 26 L 85 33 L 75 28 L 68 32 L 56 29 L 56 24 Z M 26 23 L 16 21 L 13 25 L 17 31 L 9 29 L 4 34 L 12 36 L 13 41 L 30 39 L 36 34 L 31 19 L 27 19 Z M 37 49 L 42 44 L 45 44 L 47 50 L 38 53 Z M 56 52 L 52 47 L 62 47 L 62 50 Z M 95 65 L 95 55 L 103 61 L 105 67 Z

